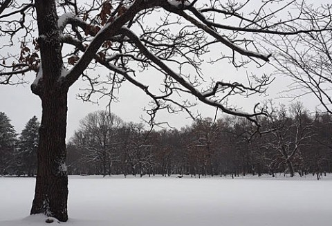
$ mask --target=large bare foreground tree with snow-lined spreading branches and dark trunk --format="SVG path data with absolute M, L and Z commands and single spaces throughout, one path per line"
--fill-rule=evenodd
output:
M 288 8 L 297 16 L 285 17 L 282 12 Z M 91 85 L 81 95 L 84 100 L 91 100 L 93 93 L 114 100 L 114 91 L 122 82 L 137 86 L 151 97 L 152 105 L 147 109 L 151 124 L 160 110 L 187 111 L 194 117 L 189 109 L 193 104 L 181 99 L 187 95 L 256 123 L 263 112 L 257 108 L 251 113 L 236 111 L 227 100 L 232 95 L 264 93 L 269 77 L 248 77 L 247 83 L 228 82 L 223 79 L 226 72 L 220 64 L 221 69 L 215 72 L 217 79 L 210 79 L 203 64 L 209 58 L 212 64 L 226 60 L 237 68 L 252 61 L 259 65 L 268 62 L 271 53 L 259 50 L 253 35 L 287 36 L 325 29 L 308 21 L 306 9 L 297 1 L 277 0 L 95 0 L 89 4 L 76 0 L 3 1 L 1 39 L 23 39 L 17 55 L 10 53 L 11 45 L 0 47 L 8 51 L 2 55 L 1 83 L 15 83 L 16 75 L 21 78 L 33 70 L 37 77 L 31 89 L 42 100 L 39 164 L 30 213 L 68 219 L 67 93 L 77 79 L 83 77 Z M 303 30 L 297 23 L 306 23 L 308 28 Z M 210 55 L 216 49 L 221 53 Z M 99 76 L 93 72 L 100 66 L 110 73 Z M 153 77 L 160 75 L 161 88 L 152 88 L 138 78 L 148 69 L 156 74 Z

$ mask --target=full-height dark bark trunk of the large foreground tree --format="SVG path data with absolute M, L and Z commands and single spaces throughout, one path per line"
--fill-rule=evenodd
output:
M 66 171 L 66 117 L 68 86 L 62 84 L 62 44 L 57 28 L 55 0 L 35 0 L 42 64 L 31 85 L 42 100 L 42 122 L 37 151 L 35 198 L 30 214 L 68 220 Z

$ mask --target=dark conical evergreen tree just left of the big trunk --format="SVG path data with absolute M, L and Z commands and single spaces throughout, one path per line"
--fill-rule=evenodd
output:
M 19 174 L 34 176 L 37 173 L 39 122 L 33 116 L 19 136 Z

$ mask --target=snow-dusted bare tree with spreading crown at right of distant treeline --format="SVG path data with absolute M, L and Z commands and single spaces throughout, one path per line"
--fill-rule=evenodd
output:
M 295 164 L 298 171 L 303 169 L 301 151 L 310 146 L 312 120 L 300 102 L 292 104 L 289 111 L 284 105 L 271 109 L 265 128 L 270 132 L 261 138 L 261 158 L 269 162 L 270 169 L 284 167 L 293 177 Z

